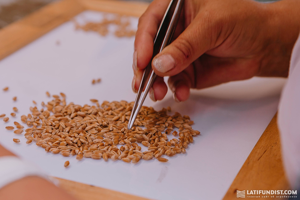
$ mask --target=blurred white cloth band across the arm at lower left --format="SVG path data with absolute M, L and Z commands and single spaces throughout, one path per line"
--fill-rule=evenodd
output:
M 0 157 L 0 189 L 13 181 L 27 176 L 39 176 L 48 179 L 41 169 L 16 156 Z

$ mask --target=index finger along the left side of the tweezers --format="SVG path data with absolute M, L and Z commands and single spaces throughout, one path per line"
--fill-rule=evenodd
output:
M 134 50 L 137 53 L 134 56 L 137 59 L 134 64 L 137 66 L 134 67 L 144 69 L 151 61 L 154 39 L 169 3 L 170 0 L 154 0 L 140 17 L 134 41 Z

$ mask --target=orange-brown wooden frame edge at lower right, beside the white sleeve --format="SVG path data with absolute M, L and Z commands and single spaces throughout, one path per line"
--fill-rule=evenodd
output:
M 289 183 L 283 169 L 277 114 L 275 114 L 236 175 L 223 200 L 236 198 L 236 190 L 288 189 Z M 274 198 L 269 196 L 264 199 Z

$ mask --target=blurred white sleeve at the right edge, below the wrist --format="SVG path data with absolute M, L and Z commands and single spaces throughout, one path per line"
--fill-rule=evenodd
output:
M 300 188 L 300 36 L 292 51 L 289 77 L 281 93 L 277 123 L 291 187 Z

